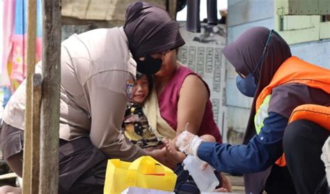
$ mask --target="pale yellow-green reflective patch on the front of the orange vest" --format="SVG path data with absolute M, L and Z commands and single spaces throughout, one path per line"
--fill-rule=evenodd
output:
M 265 100 L 263 100 L 256 112 L 256 116 L 254 116 L 254 125 L 256 127 L 257 134 L 260 133 L 261 128 L 264 126 L 264 120 L 268 117 L 269 100 L 271 96 L 272 95 L 269 94 Z

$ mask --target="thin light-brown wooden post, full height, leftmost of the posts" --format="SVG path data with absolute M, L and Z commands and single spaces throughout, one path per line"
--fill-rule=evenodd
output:
M 32 76 L 36 64 L 36 0 L 29 0 L 27 27 L 27 74 L 26 74 L 26 107 L 23 153 L 23 188 L 24 194 L 30 194 L 31 189 L 31 133 L 32 133 Z

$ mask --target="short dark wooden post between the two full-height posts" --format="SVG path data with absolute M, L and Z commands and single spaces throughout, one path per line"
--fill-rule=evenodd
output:
M 39 193 L 41 75 L 33 75 L 31 193 Z

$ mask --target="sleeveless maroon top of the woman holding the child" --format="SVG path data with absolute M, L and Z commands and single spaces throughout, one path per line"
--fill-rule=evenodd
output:
M 159 94 L 158 103 L 159 110 L 163 119 L 175 130 L 178 127 L 178 100 L 179 100 L 179 91 L 182 87 L 184 79 L 188 75 L 197 75 L 194 71 L 190 70 L 185 66 L 180 66 L 171 77 L 171 80 L 168 81 L 164 91 Z M 201 78 L 199 75 L 197 75 Z M 201 80 L 203 80 L 201 78 Z M 204 82 L 204 80 L 203 80 Z M 205 82 L 204 82 L 205 83 Z M 207 84 L 205 83 L 207 87 Z M 207 87 L 207 90 L 210 94 L 210 89 Z M 220 135 L 220 130 L 214 122 L 212 103 L 210 100 L 207 101 L 203 120 L 201 122 L 201 128 L 198 131 L 198 135 L 210 134 L 215 137 L 217 142 L 221 143 L 222 138 Z

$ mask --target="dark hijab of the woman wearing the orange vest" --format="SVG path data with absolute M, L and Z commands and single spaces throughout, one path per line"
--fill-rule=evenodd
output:
M 223 54 L 237 71 L 249 75 L 256 68 L 262 51 L 267 42 L 270 30 L 265 27 L 252 27 L 242 33 L 237 40 L 223 48 Z M 288 43 L 276 32 L 272 32 L 267 45 L 265 57 L 254 75 L 258 88 L 253 98 L 249 122 L 246 126 L 244 144 L 247 144 L 253 135 L 256 135 L 254 116 L 256 114 L 256 100 L 265 87 L 271 82 L 276 70 L 283 62 L 291 57 Z M 262 75 L 262 76 L 260 76 Z

